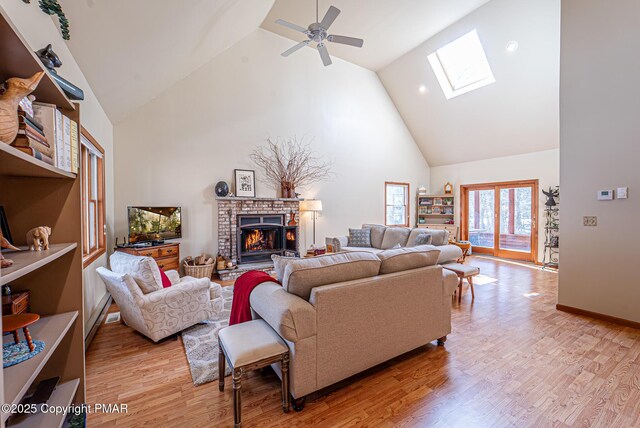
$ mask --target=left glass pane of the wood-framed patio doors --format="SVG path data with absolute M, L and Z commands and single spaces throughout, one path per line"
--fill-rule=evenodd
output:
M 472 190 L 468 193 L 469 241 L 474 247 L 495 246 L 495 191 Z

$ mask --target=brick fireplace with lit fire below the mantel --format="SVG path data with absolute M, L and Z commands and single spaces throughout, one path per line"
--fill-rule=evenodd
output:
M 220 197 L 218 251 L 239 265 L 267 262 L 271 255 L 299 252 L 300 199 Z

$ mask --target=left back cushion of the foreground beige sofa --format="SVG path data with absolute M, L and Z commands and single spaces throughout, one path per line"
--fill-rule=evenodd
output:
M 309 300 L 314 287 L 368 278 L 378 275 L 379 271 L 380 259 L 365 251 L 300 259 L 287 264 L 282 287 Z

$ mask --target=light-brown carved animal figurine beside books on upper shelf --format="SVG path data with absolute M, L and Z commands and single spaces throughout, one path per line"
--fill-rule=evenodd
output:
M 0 141 L 11 144 L 16 139 L 20 100 L 38 87 L 42 76 L 44 71 L 39 71 L 28 79 L 12 77 L 7 80 L 7 90 L 0 95 Z

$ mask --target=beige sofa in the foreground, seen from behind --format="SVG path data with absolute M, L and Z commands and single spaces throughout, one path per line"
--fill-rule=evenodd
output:
M 436 264 L 439 254 L 419 246 L 276 257 L 282 286 L 260 284 L 250 302 L 254 317 L 289 346 L 293 397 L 303 399 L 436 339 L 444 343 L 457 277 Z

